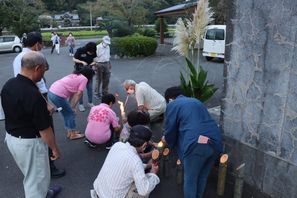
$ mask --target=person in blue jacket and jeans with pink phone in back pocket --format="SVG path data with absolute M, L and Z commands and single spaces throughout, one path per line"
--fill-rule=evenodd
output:
M 212 163 L 223 152 L 222 132 L 206 107 L 195 98 L 185 97 L 180 87 L 165 91 L 166 128 L 163 144 L 176 146 L 184 169 L 185 198 L 202 197 Z M 209 143 L 198 143 L 199 136 Z

